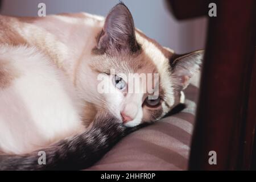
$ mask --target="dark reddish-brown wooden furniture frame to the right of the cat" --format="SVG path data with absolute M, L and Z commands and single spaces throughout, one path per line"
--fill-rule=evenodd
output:
M 210 2 L 216 17 L 208 16 Z M 256 1 L 167 3 L 179 20 L 209 20 L 189 169 L 256 169 Z M 209 151 L 216 151 L 216 165 L 208 163 Z

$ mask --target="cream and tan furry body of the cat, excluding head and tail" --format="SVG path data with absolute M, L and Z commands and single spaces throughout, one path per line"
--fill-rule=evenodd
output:
M 80 15 L 83 17 L 84 14 Z M 72 30 L 65 32 L 68 25 L 58 17 L 71 22 L 77 20 L 79 27 L 71 26 Z M 47 21 L 48 18 L 53 19 L 55 25 L 47 24 L 51 22 Z M 0 69 L 3 74 L 0 148 L 15 154 L 31 152 L 79 133 L 86 123 L 92 121 L 93 118 L 88 118 L 83 112 L 94 112 L 95 108 L 86 105 L 85 101 L 90 101 L 93 89 L 97 92 L 97 84 L 91 84 L 97 76 L 93 76 L 88 65 L 84 67 L 86 89 L 83 91 L 84 96 L 88 96 L 84 101 L 79 99 L 79 87 L 75 87 L 76 76 L 81 60 L 90 60 L 91 50 L 96 46 L 94 38 L 103 23 L 93 17 L 86 18 L 86 15 L 77 19 L 53 15 L 35 18 L 34 23 L 26 23 L 26 20 L 1 16 L 1 26 L 9 26 L 13 34 L 5 31 L 0 36 Z M 94 24 L 90 27 L 89 23 Z M 47 27 L 52 27 L 52 32 L 48 32 Z M 14 42 L 13 37 L 22 37 L 22 40 Z

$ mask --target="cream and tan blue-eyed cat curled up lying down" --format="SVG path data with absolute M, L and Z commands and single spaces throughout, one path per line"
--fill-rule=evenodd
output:
M 106 18 L 0 15 L 0 26 L 0 169 L 90 166 L 180 104 L 203 57 L 177 55 L 148 38 L 122 2 Z M 127 92 L 130 73 L 158 75 L 147 81 L 159 96 L 150 99 L 143 84 L 135 85 L 143 92 Z M 99 93 L 101 84 L 111 92 Z M 47 165 L 38 164 L 42 148 Z

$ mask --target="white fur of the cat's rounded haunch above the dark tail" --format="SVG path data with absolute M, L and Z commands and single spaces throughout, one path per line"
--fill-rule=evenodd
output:
M 77 133 L 81 127 L 75 90 L 35 48 L 0 46 L 0 61 L 19 77 L 0 89 L 0 150 L 22 154 Z

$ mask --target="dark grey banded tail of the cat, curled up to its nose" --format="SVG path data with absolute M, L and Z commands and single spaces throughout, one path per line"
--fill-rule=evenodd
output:
M 110 115 L 97 114 L 93 125 L 80 135 L 60 140 L 31 154 L 0 155 L 0 170 L 84 169 L 92 166 L 118 140 L 136 129 L 122 126 L 118 119 Z

